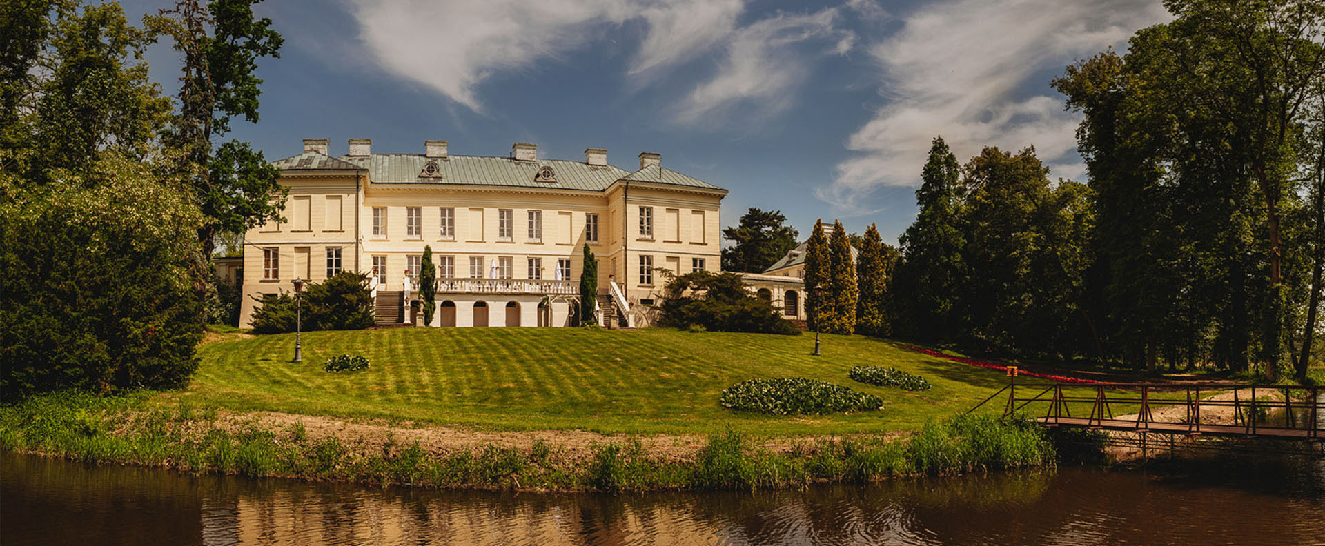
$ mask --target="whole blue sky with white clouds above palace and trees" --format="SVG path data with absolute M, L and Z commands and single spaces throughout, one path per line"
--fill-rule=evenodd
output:
M 167 1 L 125 1 L 130 19 Z M 885 241 L 916 214 L 929 141 L 961 161 L 1035 145 L 1080 178 L 1073 131 L 1048 86 L 1063 66 L 1165 21 L 1159 0 L 268 0 L 285 38 L 264 59 L 261 120 L 236 123 L 269 159 L 303 137 L 372 139 L 378 152 L 541 157 L 640 152 L 729 189 L 722 221 L 782 210 Z M 174 93 L 176 54 L 147 56 Z

